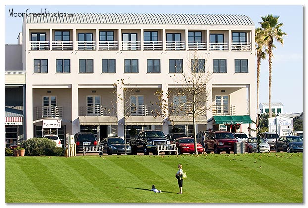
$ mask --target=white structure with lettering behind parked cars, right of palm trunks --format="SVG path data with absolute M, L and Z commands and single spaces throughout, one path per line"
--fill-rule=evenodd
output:
M 277 119 L 277 125 L 276 125 Z M 279 136 L 288 136 L 293 129 L 293 118 L 286 116 L 277 116 L 268 118 L 268 132 L 275 133 Z

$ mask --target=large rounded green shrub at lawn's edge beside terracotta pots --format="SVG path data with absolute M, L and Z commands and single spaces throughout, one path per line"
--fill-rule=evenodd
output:
M 47 138 L 32 138 L 23 141 L 20 144 L 26 150 L 27 156 L 61 156 L 64 155 L 64 149 L 56 147 L 56 143 Z M 63 153 L 62 153 L 63 152 Z

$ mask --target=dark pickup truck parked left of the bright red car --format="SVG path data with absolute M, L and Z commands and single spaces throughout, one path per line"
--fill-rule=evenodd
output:
M 129 145 L 132 148 L 132 155 L 137 155 L 138 152 L 143 152 L 144 155 L 157 155 L 156 144 L 170 144 L 162 131 L 145 130 L 140 131 L 137 138 L 131 139 Z

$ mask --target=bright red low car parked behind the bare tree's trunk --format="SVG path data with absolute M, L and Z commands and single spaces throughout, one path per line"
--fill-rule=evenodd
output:
M 195 147 L 194 147 L 195 144 L 194 144 L 194 139 L 192 137 L 180 137 L 174 140 L 173 143 L 176 144 L 179 155 L 183 153 L 190 153 L 190 154 L 195 153 Z M 197 143 L 197 151 L 198 154 L 201 154 L 203 152 L 203 148 L 200 143 Z

